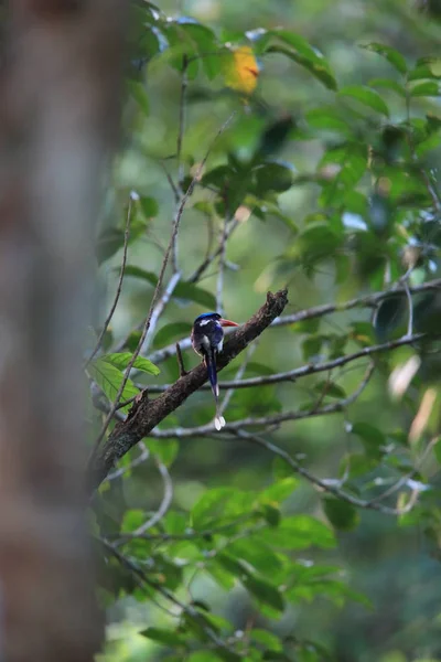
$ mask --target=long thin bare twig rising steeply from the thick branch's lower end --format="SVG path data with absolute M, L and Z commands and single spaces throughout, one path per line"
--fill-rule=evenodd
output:
M 149 313 L 148 313 L 148 316 L 146 318 L 146 322 L 143 324 L 141 338 L 139 339 L 138 345 L 137 345 L 137 348 L 136 348 L 136 350 L 135 350 L 135 352 L 133 352 L 133 354 L 132 354 L 132 356 L 131 356 L 131 359 L 130 359 L 130 361 L 129 361 L 129 363 L 128 363 L 128 365 L 126 367 L 126 372 L 125 372 L 125 375 L 122 377 L 121 384 L 120 384 L 120 386 L 118 388 L 117 395 L 115 397 L 115 402 L 114 402 L 114 404 L 112 404 L 112 406 L 111 406 L 111 408 L 110 408 L 110 410 L 109 410 L 109 413 L 108 413 L 108 415 L 107 415 L 107 417 L 106 417 L 106 419 L 104 421 L 101 431 L 99 433 L 99 435 L 98 435 L 98 437 L 97 437 L 97 439 L 95 441 L 94 449 L 93 449 L 93 452 L 92 452 L 92 456 L 90 456 L 90 459 L 89 459 L 89 463 L 93 462 L 93 460 L 95 458 L 95 455 L 96 455 L 96 451 L 98 450 L 99 445 L 100 445 L 101 440 L 104 439 L 104 436 L 105 436 L 105 434 L 107 431 L 109 423 L 110 423 L 110 420 L 114 417 L 116 408 L 118 407 L 119 399 L 120 399 L 120 397 L 121 397 L 121 395 L 123 393 L 123 389 L 126 388 L 126 384 L 127 384 L 127 381 L 129 378 L 130 371 L 133 367 L 133 364 L 135 364 L 136 360 L 139 356 L 141 348 L 143 346 L 143 343 L 144 343 L 144 340 L 146 340 L 146 335 L 147 335 L 147 333 L 148 333 L 148 331 L 150 329 L 151 318 L 152 318 L 153 310 L 154 310 L 154 307 L 157 305 L 157 301 L 159 299 L 159 292 L 160 292 L 160 289 L 161 289 L 161 286 L 162 286 L 162 281 L 163 281 L 163 278 L 164 278 L 165 268 L 166 268 L 166 265 L 169 263 L 170 254 L 171 254 L 172 248 L 173 248 L 174 238 L 175 238 L 175 236 L 178 234 L 178 231 L 179 231 L 179 227 L 180 227 L 180 223 L 181 223 L 181 218 L 182 218 L 182 214 L 184 212 L 185 205 L 186 205 L 190 196 L 193 193 L 193 190 L 194 190 L 194 186 L 196 185 L 196 182 L 198 181 L 198 179 L 201 177 L 201 173 L 202 173 L 202 171 L 203 171 L 203 169 L 205 167 L 205 163 L 206 163 L 206 161 L 208 159 L 208 156 L 209 156 L 209 153 L 212 151 L 214 142 L 220 136 L 220 134 L 223 134 L 225 131 L 225 129 L 228 127 L 228 125 L 233 120 L 233 117 L 234 117 L 234 114 L 229 116 L 229 118 L 227 119 L 227 121 L 224 122 L 223 126 L 220 127 L 220 129 L 217 131 L 214 140 L 212 141 L 212 145 L 207 149 L 205 157 L 203 158 L 200 167 L 197 168 L 197 172 L 194 175 L 194 178 L 193 178 L 193 180 L 192 180 L 189 189 L 186 190 L 186 192 L 182 196 L 181 204 L 179 205 L 179 209 L 178 209 L 178 211 L 175 213 L 175 216 L 174 216 L 172 234 L 171 234 L 171 237 L 170 237 L 169 246 L 166 248 L 164 258 L 162 260 L 161 269 L 160 269 L 159 277 L 158 277 L 158 282 L 157 282 L 157 286 L 154 288 L 154 292 L 153 292 L 152 301 L 151 301 L 151 305 L 150 305 Z

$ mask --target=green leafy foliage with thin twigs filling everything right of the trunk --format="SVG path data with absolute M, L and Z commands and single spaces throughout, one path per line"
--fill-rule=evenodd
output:
M 289 305 L 220 373 L 225 430 L 203 388 L 101 483 L 103 660 L 441 659 L 440 28 L 247 4 L 133 6 L 92 444 L 176 341 L 196 365 L 197 314 Z

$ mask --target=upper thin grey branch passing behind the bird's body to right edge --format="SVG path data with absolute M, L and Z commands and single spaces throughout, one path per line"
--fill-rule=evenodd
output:
M 193 277 L 192 277 L 193 278 Z M 193 282 L 192 278 L 189 281 Z M 418 285 L 416 287 L 409 288 L 411 293 L 419 293 L 430 290 L 441 289 L 441 278 L 437 278 L 435 280 L 431 280 L 429 282 L 424 282 L 422 285 Z M 398 287 L 394 289 L 394 295 L 397 293 L 406 293 L 406 289 L 404 287 Z M 345 301 L 344 303 L 323 303 L 321 306 L 314 306 L 312 308 L 306 308 L 305 310 L 300 310 L 299 312 L 294 312 L 293 314 L 287 314 L 280 318 L 277 318 L 271 328 L 275 327 L 286 327 L 290 324 L 295 324 L 298 322 L 303 322 L 305 320 L 312 320 L 321 317 L 325 317 L 333 312 L 345 312 L 347 310 L 352 310 L 354 308 L 375 308 L 380 301 L 390 297 L 391 292 L 381 291 L 375 292 L 374 295 L 367 295 L 366 297 L 358 297 L 357 299 L 351 299 Z M 225 329 L 226 335 L 232 333 L 233 331 L 229 329 Z M 190 338 L 184 338 L 179 341 L 181 345 L 181 350 L 187 350 L 191 346 Z M 175 345 L 168 345 L 162 350 L 158 350 L 148 356 L 150 361 L 153 363 L 161 363 L 165 361 L 170 356 L 173 356 L 175 353 Z

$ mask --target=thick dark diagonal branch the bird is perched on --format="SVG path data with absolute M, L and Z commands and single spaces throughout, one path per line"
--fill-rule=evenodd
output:
M 235 356 L 258 338 L 288 303 L 287 290 L 272 295 L 268 292 L 267 301 L 251 319 L 237 329 L 225 343 L 224 351 L 218 357 L 217 366 L 222 370 Z M 115 463 L 122 458 L 142 437 L 146 437 L 166 416 L 174 412 L 186 398 L 206 382 L 207 374 L 204 365 L 198 365 L 189 374 L 180 377 L 170 388 L 157 399 L 142 397 L 133 405 L 127 420 L 118 423 L 106 446 L 92 458 L 89 466 L 89 484 L 97 488 L 106 478 Z

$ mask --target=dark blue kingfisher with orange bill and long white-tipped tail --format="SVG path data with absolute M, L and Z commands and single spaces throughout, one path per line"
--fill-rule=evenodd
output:
M 225 418 L 219 410 L 219 385 L 217 383 L 216 355 L 222 352 L 224 345 L 223 327 L 238 327 L 236 322 L 224 320 L 218 312 L 203 312 L 193 322 L 192 345 L 196 354 L 203 357 L 207 369 L 208 380 L 212 385 L 216 403 L 216 416 L 214 425 L 220 430 L 225 425 Z

